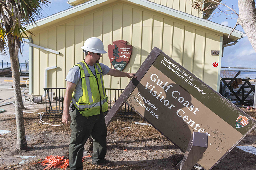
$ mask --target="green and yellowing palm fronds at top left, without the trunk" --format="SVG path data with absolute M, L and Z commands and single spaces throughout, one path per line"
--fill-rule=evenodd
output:
M 21 52 L 22 38 L 28 38 L 24 25 L 36 23 L 42 17 L 42 6 L 49 7 L 48 0 L 0 0 L 0 53 L 6 54 L 7 44 L 15 55 Z M 8 37 L 8 43 L 7 38 Z

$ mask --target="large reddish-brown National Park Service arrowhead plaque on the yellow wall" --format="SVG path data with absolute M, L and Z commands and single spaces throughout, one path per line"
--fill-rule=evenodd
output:
M 108 57 L 110 63 L 116 70 L 123 71 L 130 60 L 132 46 L 127 45 L 127 41 L 117 40 L 113 45 L 108 45 Z

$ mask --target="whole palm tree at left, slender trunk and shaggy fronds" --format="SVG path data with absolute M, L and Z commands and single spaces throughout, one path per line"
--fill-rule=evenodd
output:
M 24 106 L 20 91 L 18 53 L 22 54 L 22 38 L 28 38 L 26 32 L 31 33 L 24 26 L 29 23 L 35 23 L 42 16 L 41 6 L 46 5 L 48 7 L 48 3 L 49 1 L 47 0 L 0 0 L 0 53 L 7 55 L 7 51 L 9 51 L 10 55 L 15 94 L 16 149 L 27 148 L 23 120 Z

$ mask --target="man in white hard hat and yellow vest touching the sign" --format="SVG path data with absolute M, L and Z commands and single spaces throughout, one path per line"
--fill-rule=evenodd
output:
M 104 159 L 107 152 L 107 128 L 103 113 L 108 110 L 103 76 L 136 78 L 99 63 L 104 51 L 103 43 L 96 37 L 88 38 L 82 47 L 85 59 L 74 65 L 66 77 L 67 88 L 64 97 L 62 122 L 70 121 L 71 141 L 69 144 L 70 170 L 82 170 L 84 144 L 93 138 L 92 164 L 112 166 Z M 70 104 L 71 103 L 71 104 Z

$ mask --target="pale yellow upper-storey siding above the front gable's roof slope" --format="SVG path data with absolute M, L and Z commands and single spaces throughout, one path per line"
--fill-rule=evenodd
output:
M 148 0 L 148 1 L 202 18 L 202 12 L 192 8 L 192 4 L 195 1 L 198 2 L 199 0 Z

